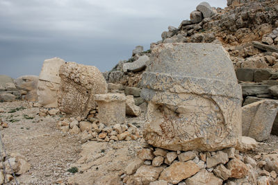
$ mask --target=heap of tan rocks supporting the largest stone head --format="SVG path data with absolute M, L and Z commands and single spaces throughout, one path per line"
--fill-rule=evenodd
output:
M 126 184 L 277 184 L 278 152 L 250 157 L 235 148 L 214 152 L 143 148 L 124 170 Z

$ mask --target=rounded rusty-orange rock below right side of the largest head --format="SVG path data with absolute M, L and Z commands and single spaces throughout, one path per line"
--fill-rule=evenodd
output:
M 227 169 L 231 170 L 231 177 L 240 179 L 245 177 L 248 174 L 248 168 L 240 161 L 240 159 L 231 159 L 227 164 Z

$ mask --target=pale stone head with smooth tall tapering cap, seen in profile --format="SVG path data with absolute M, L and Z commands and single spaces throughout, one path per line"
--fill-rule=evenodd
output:
M 57 107 L 57 93 L 60 87 L 60 66 L 65 61 L 60 58 L 44 60 L 38 81 L 38 103 L 44 107 Z

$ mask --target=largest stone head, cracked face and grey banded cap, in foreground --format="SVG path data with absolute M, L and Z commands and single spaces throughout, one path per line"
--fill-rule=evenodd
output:
M 234 147 L 241 136 L 241 89 L 216 44 L 158 44 L 142 76 L 149 102 L 145 140 L 168 150 Z

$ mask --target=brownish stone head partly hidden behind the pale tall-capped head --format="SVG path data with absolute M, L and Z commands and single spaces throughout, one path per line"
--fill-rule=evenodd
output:
M 19 78 L 15 79 L 15 86 L 18 89 L 22 89 L 27 91 L 25 96 L 25 100 L 28 101 L 36 101 L 38 100 L 37 96 L 37 87 L 38 87 L 38 76 L 20 76 Z

